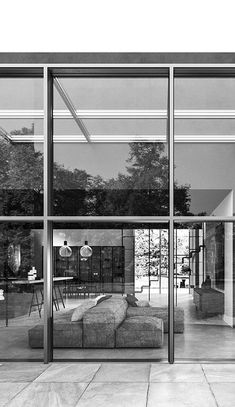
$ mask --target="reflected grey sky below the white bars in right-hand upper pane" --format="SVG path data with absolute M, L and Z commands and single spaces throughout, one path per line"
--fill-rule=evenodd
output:
M 228 190 L 235 191 L 234 158 L 235 144 L 175 145 L 175 179 L 179 185 L 190 184 L 193 213 L 210 214 Z

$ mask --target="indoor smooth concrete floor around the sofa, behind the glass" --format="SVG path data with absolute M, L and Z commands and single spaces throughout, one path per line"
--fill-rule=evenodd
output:
M 146 293 L 143 298 L 147 299 Z M 146 297 L 146 298 L 145 298 Z M 235 360 L 235 329 L 222 320 L 221 316 L 202 319 L 196 313 L 192 295 L 188 289 L 178 290 L 178 306 L 184 309 L 185 332 L 175 335 L 175 358 L 197 360 Z M 78 300 L 66 301 L 66 308 L 54 312 L 54 318 L 77 306 Z M 166 305 L 167 293 L 152 295 L 151 303 L 156 306 Z M 41 324 L 38 312 L 30 317 L 22 316 L 0 323 L 0 360 L 1 359 L 43 359 L 42 349 L 31 349 L 28 346 L 28 330 Z M 161 349 L 54 349 L 54 359 L 163 359 L 168 356 L 168 335 L 164 337 Z M 234 403 L 235 405 L 235 403 Z

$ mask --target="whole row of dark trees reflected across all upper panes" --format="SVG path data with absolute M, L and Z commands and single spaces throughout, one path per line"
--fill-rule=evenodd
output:
M 12 134 L 33 134 L 34 128 Z M 42 214 L 43 155 L 33 143 L 0 137 L 0 210 L 5 215 Z M 126 172 L 104 180 L 83 169 L 54 163 L 56 215 L 168 215 L 168 158 L 163 143 L 130 143 Z M 105 158 L 104 158 L 105 159 Z M 175 185 L 177 214 L 188 213 L 188 186 Z

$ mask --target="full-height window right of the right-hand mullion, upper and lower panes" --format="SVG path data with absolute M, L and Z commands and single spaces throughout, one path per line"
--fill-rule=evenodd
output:
M 235 78 L 218 70 L 175 77 L 175 304 L 184 308 L 184 341 L 175 357 L 234 359 Z M 213 221 L 214 218 L 216 221 Z M 204 218 L 204 220 L 203 220 Z

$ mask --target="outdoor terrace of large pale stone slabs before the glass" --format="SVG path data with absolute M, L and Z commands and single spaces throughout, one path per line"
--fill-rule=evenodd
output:
M 0 407 L 234 407 L 235 364 L 4 363 Z

